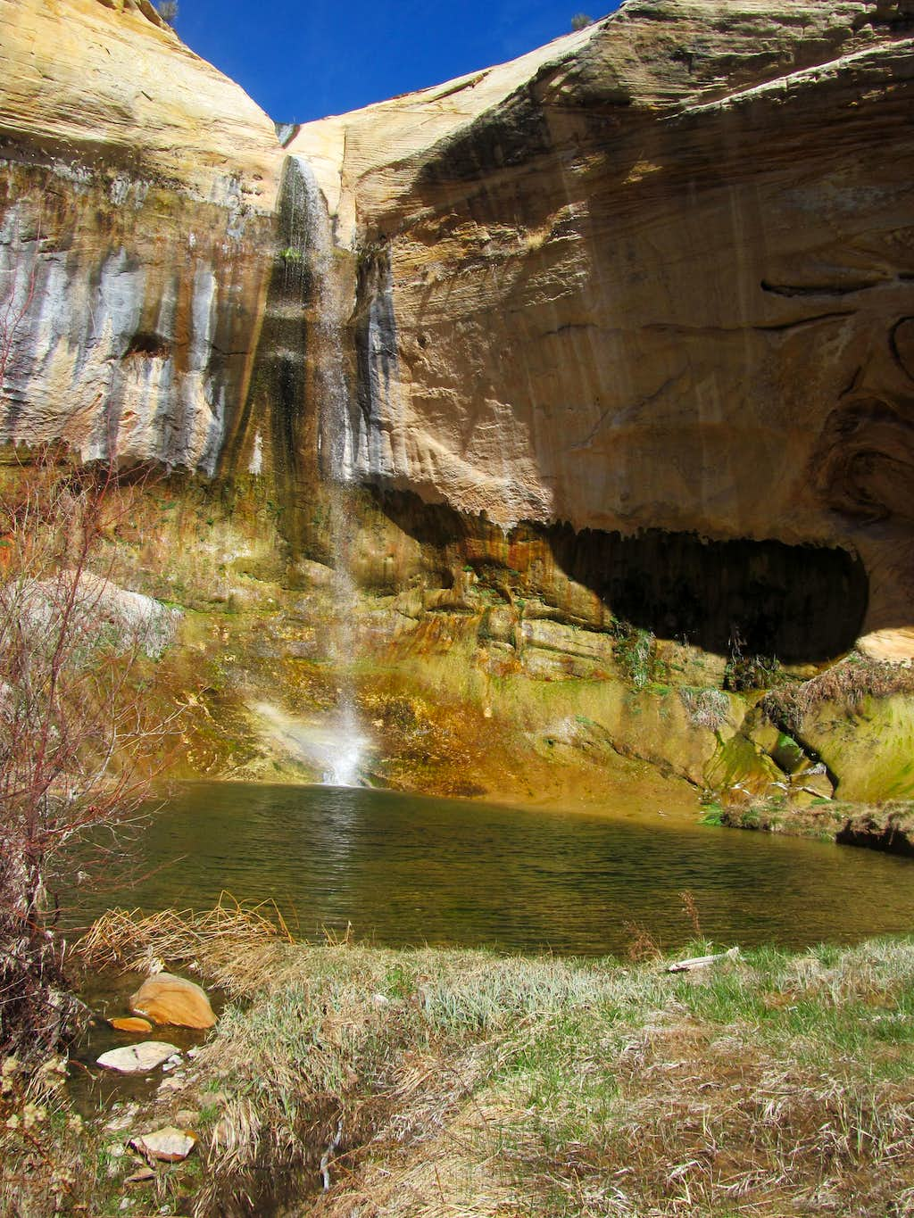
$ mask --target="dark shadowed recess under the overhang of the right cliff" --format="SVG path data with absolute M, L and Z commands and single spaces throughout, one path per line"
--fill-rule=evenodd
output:
M 838 548 L 658 529 L 623 536 L 522 524 L 503 533 L 413 493 L 375 498 L 422 547 L 427 577 L 448 586 L 470 566 L 481 582 L 539 597 L 554 616 L 592 628 L 625 622 L 720 655 L 803 664 L 849 650 L 866 611 L 863 563 Z

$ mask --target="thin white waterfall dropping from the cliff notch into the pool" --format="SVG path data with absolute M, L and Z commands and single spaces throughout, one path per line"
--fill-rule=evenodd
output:
M 333 750 L 325 753 L 323 781 L 334 787 L 357 787 L 368 741 L 355 700 L 356 583 L 351 569 L 355 521 L 350 508 L 355 448 L 342 351 L 346 301 L 335 273 L 333 225 L 313 171 L 302 157 L 286 161 L 284 194 L 294 234 L 292 258 L 303 261 L 311 276 L 313 323 L 308 328 L 318 404 L 318 458 L 330 501 L 333 551 L 333 625 L 328 649 L 339 681 Z

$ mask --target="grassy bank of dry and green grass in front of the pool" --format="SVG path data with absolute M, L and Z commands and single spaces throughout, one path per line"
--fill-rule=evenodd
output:
M 79 1123 L 60 1073 L 28 1095 L 13 1079 L 6 1212 L 914 1213 L 914 939 L 684 974 L 636 948 L 306 948 L 244 916 L 110 920 L 93 967 L 165 956 L 229 995 L 130 1123 L 193 1118 L 199 1150 L 126 1184 L 110 1110 Z M 45 1110 L 28 1129 L 27 1101 Z

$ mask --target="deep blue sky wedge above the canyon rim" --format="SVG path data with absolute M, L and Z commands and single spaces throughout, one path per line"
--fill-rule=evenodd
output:
M 178 33 L 271 118 L 307 122 L 514 58 L 601 0 L 179 0 Z

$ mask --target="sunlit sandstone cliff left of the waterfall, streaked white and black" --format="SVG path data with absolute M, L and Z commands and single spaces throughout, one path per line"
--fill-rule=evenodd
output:
M 273 124 L 146 0 L 0 2 L 2 431 L 212 474 L 273 255 Z

